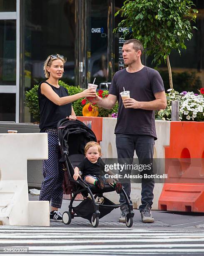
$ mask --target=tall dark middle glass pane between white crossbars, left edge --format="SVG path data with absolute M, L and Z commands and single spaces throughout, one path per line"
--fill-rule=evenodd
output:
M 16 84 L 16 21 L 0 20 L 0 86 Z

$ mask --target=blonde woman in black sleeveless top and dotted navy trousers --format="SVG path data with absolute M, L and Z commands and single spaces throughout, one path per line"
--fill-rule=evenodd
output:
M 48 136 L 48 159 L 43 161 L 42 187 L 40 201 L 51 201 L 50 220 L 62 221 L 62 214 L 58 211 L 61 208 L 63 188 L 62 182 L 64 171 L 59 142 L 57 137 L 57 123 L 62 118 L 76 120 L 75 112 L 71 102 L 82 97 L 95 97 L 96 91 L 87 89 L 75 95 L 68 95 L 65 87 L 58 84 L 64 72 L 66 59 L 59 54 L 50 55 L 44 63 L 46 81 L 42 81 L 38 88 L 38 99 L 40 106 L 40 132 Z

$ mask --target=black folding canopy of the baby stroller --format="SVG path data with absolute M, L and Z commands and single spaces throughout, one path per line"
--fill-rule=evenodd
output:
M 84 155 L 86 143 L 97 142 L 94 132 L 80 120 L 62 119 L 57 123 L 57 129 L 62 151 L 67 151 L 68 155 Z

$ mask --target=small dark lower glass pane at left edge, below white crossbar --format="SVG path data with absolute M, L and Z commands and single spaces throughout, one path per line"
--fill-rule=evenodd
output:
M 15 93 L 0 93 L 0 120 L 15 121 Z

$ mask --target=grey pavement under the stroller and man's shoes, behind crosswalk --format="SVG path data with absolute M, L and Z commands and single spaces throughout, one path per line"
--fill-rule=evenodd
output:
M 39 196 L 34 196 L 29 194 L 30 201 L 37 201 Z M 78 205 L 81 201 L 75 201 L 74 206 Z M 70 200 L 63 200 L 61 213 L 68 210 Z M 154 217 L 154 223 L 142 223 L 139 210 L 134 210 L 134 223 L 132 228 L 148 228 L 157 230 L 203 230 L 204 229 L 204 213 L 194 213 L 194 212 L 164 212 L 152 210 L 152 215 Z M 125 223 L 119 223 L 118 219 L 120 217 L 120 209 L 114 209 L 108 215 L 104 216 L 99 220 L 98 228 L 110 228 L 116 226 L 117 228 L 127 228 Z M 70 225 L 65 225 L 60 222 L 50 222 L 50 226 L 62 227 L 77 227 L 86 226 L 91 227 L 92 225 L 86 219 L 77 217 L 72 220 Z

